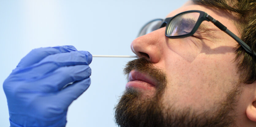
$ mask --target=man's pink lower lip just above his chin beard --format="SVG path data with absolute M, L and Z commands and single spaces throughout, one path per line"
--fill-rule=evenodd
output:
M 137 89 L 142 89 L 142 90 L 155 90 L 155 86 L 153 86 L 150 83 L 140 81 L 140 80 L 134 80 L 130 81 L 126 84 L 126 88 L 133 87 Z

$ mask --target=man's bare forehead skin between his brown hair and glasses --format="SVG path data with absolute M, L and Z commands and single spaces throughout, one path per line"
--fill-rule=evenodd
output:
M 226 26 L 227 29 L 229 29 L 234 34 L 236 34 L 238 37 L 240 37 L 238 29 L 234 24 L 234 19 L 230 16 L 229 13 L 224 12 L 223 10 L 217 10 L 217 9 L 214 9 L 214 8 L 211 8 L 211 7 L 208 7 L 208 6 L 197 5 L 197 4 L 193 3 L 191 0 L 186 2 L 180 8 L 170 12 L 166 17 L 172 17 L 172 16 L 175 16 L 176 14 L 178 14 L 180 12 L 189 11 L 189 10 L 200 10 L 200 11 L 206 12 L 207 14 L 212 16 L 214 19 L 216 19 L 220 23 L 222 23 L 224 26 Z M 204 21 L 203 23 L 208 25 L 209 27 L 216 27 L 211 22 Z

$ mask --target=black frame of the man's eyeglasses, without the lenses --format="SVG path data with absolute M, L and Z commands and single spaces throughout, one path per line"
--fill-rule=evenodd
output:
M 189 12 L 198 12 L 200 13 L 199 15 L 199 18 L 194 26 L 194 28 L 191 30 L 190 33 L 188 34 L 184 34 L 184 35 L 178 35 L 178 36 L 168 36 L 167 35 L 167 28 L 168 28 L 168 25 L 170 24 L 171 20 L 174 19 L 176 16 L 179 16 L 181 14 L 185 14 L 185 13 L 189 13 Z M 165 36 L 170 38 L 170 39 L 176 39 L 176 38 L 184 38 L 184 37 L 189 37 L 189 36 L 192 36 L 198 29 L 198 27 L 200 26 L 200 24 L 203 22 L 203 21 L 211 21 L 215 26 L 217 26 L 220 30 L 224 31 L 225 33 L 227 33 L 230 37 L 232 37 L 233 39 L 235 39 L 235 41 L 237 41 L 247 52 L 249 52 L 250 54 L 256 56 L 256 53 L 255 51 L 252 51 L 250 46 L 248 46 L 244 41 L 242 41 L 239 37 L 237 37 L 234 33 L 232 33 L 230 30 L 227 29 L 226 26 L 224 26 L 222 23 L 220 23 L 218 20 L 212 18 L 212 16 L 209 16 L 206 12 L 203 12 L 203 11 L 199 11 L 199 10 L 190 10 L 190 11 L 185 11 L 185 12 L 181 12 L 181 13 L 178 13 L 177 15 L 173 16 L 173 17 L 170 17 L 170 18 L 166 18 L 166 19 L 155 19 L 155 20 L 162 20 L 162 24 L 160 26 L 160 28 L 162 27 L 165 27 L 166 26 L 166 30 L 165 30 Z M 152 20 L 150 21 L 149 23 L 155 21 L 155 20 Z M 147 23 L 148 24 L 148 23 Z M 146 25 L 147 25 L 146 24 Z M 146 26 L 145 25 L 145 26 Z M 143 26 L 144 27 L 144 26 Z M 159 28 L 159 29 L 160 29 Z M 143 28 L 142 28 L 143 29 Z M 141 30 L 142 30 L 141 29 Z

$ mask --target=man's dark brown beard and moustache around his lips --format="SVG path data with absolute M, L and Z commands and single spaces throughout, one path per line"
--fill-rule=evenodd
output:
M 235 109 L 237 97 L 241 93 L 239 85 L 227 93 L 224 101 L 216 103 L 215 111 L 197 113 L 193 108 L 177 109 L 162 103 L 162 95 L 166 88 L 165 73 L 153 66 L 145 58 L 128 62 L 124 73 L 131 70 L 146 73 L 157 81 L 154 96 L 146 99 L 141 91 L 127 88 L 114 108 L 115 122 L 119 127 L 230 127 L 235 125 Z

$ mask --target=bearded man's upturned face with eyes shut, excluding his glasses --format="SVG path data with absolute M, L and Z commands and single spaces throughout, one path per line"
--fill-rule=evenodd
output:
M 214 11 L 214 9 L 196 5 L 191 1 L 170 12 L 166 17 L 172 17 L 188 10 L 204 11 L 223 23 L 234 34 L 239 35 L 232 18 L 227 13 L 221 10 Z M 117 124 L 122 121 L 120 119 L 127 117 L 120 118 L 123 114 L 120 114 L 118 110 L 122 108 L 122 105 L 126 105 L 125 110 L 131 112 L 126 114 L 132 115 L 130 117 L 133 118 L 128 116 L 131 122 L 134 118 L 139 119 L 143 113 L 155 117 L 155 121 L 166 122 L 167 120 L 166 126 L 174 124 L 174 122 L 168 121 L 171 118 L 176 121 L 188 122 L 192 119 L 190 125 L 184 122 L 184 126 L 187 124 L 186 126 L 191 127 L 200 126 L 200 124 L 193 124 L 200 123 L 200 121 L 202 121 L 201 126 L 205 126 L 204 122 L 210 123 L 209 119 L 225 121 L 227 118 L 227 121 L 232 122 L 234 118 L 229 116 L 237 112 L 231 109 L 238 100 L 236 95 L 239 92 L 237 91 L 240 91 L 238 89 L 237 62 L 234 61 L 235 47 L 238 43 L 213 23 L 204 21 L 202 24 L 207 26 L 208 31 L 197 31 L 191 37 L 169 39 L 165 36 L 166 27 L 163 27 L 138 37 L 132 42 L 132 51 L 139 58 L 145 58 L 151 63 L 145 62 L 143 59 L 135 61 L 136 64 L 130 63 L 126 68 L 126 72 L 130 72 L 130 82 L 126 85 L 126 98 L 123 96 L 122 102 L 120 101 L 115 108 Z M 136 67 L 132 67 L 133 65 Z M 142 66 L 138 67 L 139 65 Z M 161 79 L 159 76 L 164 78 Z M 155 108 L 161 109 L 154 110 Z M 122 112 L 126 113 L 124 109 Z M 136 114 L 136 112 L 139 113 Z M 220 112 L 225 113 L 221 114 Z M 159 115 L 161 116 L 158 117 Z M 218 116 L 221 118 L 217 118 Z M 179 117 L 187 117 L 187 119 Z M 145 122 L 146 118 L 141 120 Z M 151 120 L 151 118 L 147 118 L 147 120 Z M 153 126 L 153 124 L 151 125 Z M 176 123 L 176 125 L 178 124 Z

